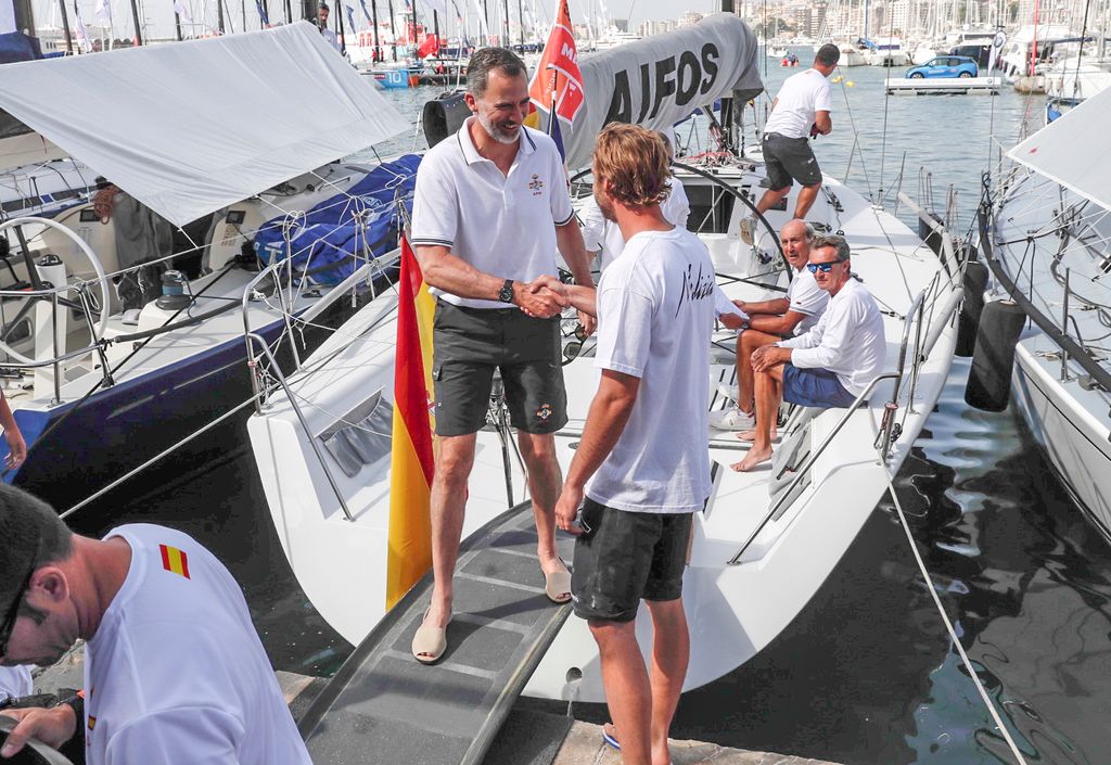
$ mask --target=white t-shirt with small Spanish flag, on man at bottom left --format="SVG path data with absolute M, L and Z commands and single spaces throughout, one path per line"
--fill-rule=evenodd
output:
M 162 526 L 112 537 L 131 566 L 86 645 L 89 765 L 311 765 L 228 569 Z

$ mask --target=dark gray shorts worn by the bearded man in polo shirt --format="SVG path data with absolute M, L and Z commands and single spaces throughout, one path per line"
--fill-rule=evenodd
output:
M 567 425 L 559 317 L 519 308 L 463 308 L 440 300 L 432 332 L 436 433 L 466 436 L 486 425 L 493 370 L 506 388 L 510 424 L 524 433 Z

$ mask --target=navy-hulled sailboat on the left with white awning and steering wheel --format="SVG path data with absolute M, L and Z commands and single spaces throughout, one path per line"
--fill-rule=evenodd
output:
M 30 137 L 102 176 L 98 199 L 0 222 L 4 395 L 29 446 L 3 480 L 63 509 L 242 410 L 244 327 L 311 341 L 298 322 L 350 315 L 417 159 L 337 161 L 409 123 L 307 22 L 2 69 L 0 157 Z

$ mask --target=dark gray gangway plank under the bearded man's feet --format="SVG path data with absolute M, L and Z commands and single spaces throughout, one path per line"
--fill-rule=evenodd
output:
M 531 503 L 464 540 L 448 650 L 419 664 L 410 643 L 432 592 L 429 573 L 356 648 L 299 721 L 316 765 L 478 765 L 571 613 L 543 592 Z M 559 535 L 564 560 L 574 540 Z M 358 583 L 337 583 L 352 587 Z

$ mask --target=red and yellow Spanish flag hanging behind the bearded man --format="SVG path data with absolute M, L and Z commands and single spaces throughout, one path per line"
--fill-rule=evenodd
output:
M 432 567 L 432 314 L 409 241 L 401 239 L 398 342 L 393 370 L 393 450 L 386 607 L 392 608 Z

